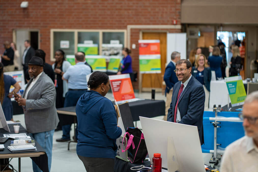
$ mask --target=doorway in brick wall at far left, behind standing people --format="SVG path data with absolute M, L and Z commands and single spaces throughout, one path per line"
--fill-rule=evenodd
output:
M 40 48 L 39 31 L 38 30 L 26 30 L 17 29 L 13 30 L 13 42 L 16 43 L 16 48 L 19 51 L 20 58 L 18 58 L 19 70 L 22 70 L 22 55 L 25 50 L 24 41 L 30 40 L 31 47 L 34 50 Z

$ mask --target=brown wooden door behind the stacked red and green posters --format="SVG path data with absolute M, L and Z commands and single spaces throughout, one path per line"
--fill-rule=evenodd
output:
M 142 74 L 142 91 L 150 91 L 151 88 L 162 88 L 165 63 L 167 59 L 167 33 L 166 32 L 143 32 L 142 39 L 160 40 L 161 73 Z M 158 91 L 158 90 L 157 90 Z

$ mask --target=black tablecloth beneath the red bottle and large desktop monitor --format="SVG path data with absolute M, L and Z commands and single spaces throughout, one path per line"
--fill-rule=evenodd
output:
M 140 166 L 140 165 L 144 165 L 145 167 L 150 167 L 150 161 L 143 161 L 143 163 L 131 163 L 131 162 L 126 162 L 126 161 L 124 161 L 122 159 L 119 159 L 119 158 L 115 157 L 114 172 L 132 172 L 132 171 L 137 171 L 137 170 L 131 170 L 131 168 L 135 167 L 135 166 Z M 211 166 L 209 166 L 207 168 L 210 169 L 210 170 L 214 169 Z M 138 171 L 140 171 L 140 170 L 138 170 Z M 192 171 L 189 171 L 189 172 L 192 172 Z

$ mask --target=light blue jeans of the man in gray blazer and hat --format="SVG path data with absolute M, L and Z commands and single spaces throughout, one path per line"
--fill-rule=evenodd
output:
M 51 168 L 51 161 L 52 161 L 52 147 L 53 147 L 54 131 L 55 131 L 55 129 L 47 131 L 47 132 L 31 134 L 32 137 L 34 137 L 35 140 L 38 142 L 38 144 L 41 145 L 41 147 L 46 151 L 49 171 Z M 32 161 L 32 167 L 33 167 L 34 172 L 41 171 L 41 169 L 37 166 L 37 164 L 34 161 Z

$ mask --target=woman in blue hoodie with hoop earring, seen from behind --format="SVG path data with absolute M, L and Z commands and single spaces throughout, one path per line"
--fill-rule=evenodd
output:
M 76 152 L 87 172 L 114 170 L 116 139 L 122 130 L 117 126 L 113 103 L 104 97 L 109 79 L 103 72 L 93 72 L 87 90 L 76 104 L 78 143 Z

